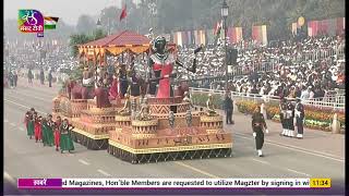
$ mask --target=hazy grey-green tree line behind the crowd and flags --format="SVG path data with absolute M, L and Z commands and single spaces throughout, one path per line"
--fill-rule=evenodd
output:
M 291 34 L 291 23 L 299 16 L 309 21 L 345 16 L 345 0 L 227 0 L 227 24 L 241 26 L 244 39 L 250 38 L 252 25 L 267 25 L 268 39 L 275 40 L 286 39 Z M 127 1 L 128 16 L 121 22 L 122 8 L 108 7 L 100 11 L 100 26 L 96 25 L 97 19 L 81 15 L 76 26 L 60 21 L 57 29 L 45 32 L 45 36 L 71 38 L 70 44 L 74 46 L 97 38 L 98 30 L 106 35 L 125 28 L 140 34 L 147 34 L 151 27 L 156 34 L 208 29 L 221 20 L 221 4 L 222 0 L 141 0 L 139 4 Z M 24 37 L 17 36 L 15 20 L 5 22 L 4 27 L 5 35 Z M 76 48 L 73 54 L 76 54 Z

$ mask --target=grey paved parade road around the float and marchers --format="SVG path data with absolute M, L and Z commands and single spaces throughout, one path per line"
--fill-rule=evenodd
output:
M 44 176 L 332 177 L 334 185 L 344 185 L 344 135 L 305 130 L 309 134 L 303 140 L 281 138 L 277 136 L 279 125 L 267 122 L 270 133 L 263 149 L 265 157 L 260 158 L 251 134 L 251 119 L 240 113 L 234 113 L 236 124 L 228 126 L 233 130 L 232 158 L 130 164 L 105 150 L 87 150 L 79 144 L 74 154 L 62 155 L 29 140 L 23 124 L 29 107 L 50 112 L 57 90 L 57 87 L 28 86 L 23 81 L 16 89 L 4 89 L 4 179 L 9 183 L 17 177 Z M 326 138 L 328 143 L 322 142 Z

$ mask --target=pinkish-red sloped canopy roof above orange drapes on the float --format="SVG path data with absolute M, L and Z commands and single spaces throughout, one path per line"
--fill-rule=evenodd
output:
M 123 30 L 121 33 L 118 34 L 113 34 L 87 44 L 82 45 L 83 47 L 108 47 L 108 46 L 113 46 L 113 47 L 118 47 L 118 46 L 130 46 L 130 45 L 135 45 L 135 46 L 140 46 L 140 45 L 148 45 L 151 42 L 151 40 L 144 36 L 144 35 L 140 35 L 135 32 L 131 32 L 131 30 Z

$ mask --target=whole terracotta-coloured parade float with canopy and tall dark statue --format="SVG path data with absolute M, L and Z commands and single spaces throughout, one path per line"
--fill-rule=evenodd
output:
M 146 53 L 145 74 L 136 72 L 132 60 L 118 65 L 113 78 L 85 66 L 82 81 L 68 82 L 53 99 L 53 117 L 72 122 L 74 142 L 132 163 L 231 156 L 231 133 L 224 130 L 212 97 L 206 110 L 198 111 L 188 85 L 177 79 L 179 69 L 196 71 L 195 59 L 184 65 L 164 37 L 151 40 L 129 30 L 80 47 L 85 62 L 100 65 L 107 53 L 125 52 Z M 108 84 L 113 89 L 108 91 Z

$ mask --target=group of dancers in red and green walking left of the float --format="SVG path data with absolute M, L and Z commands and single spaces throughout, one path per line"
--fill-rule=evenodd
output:
M 38 115 L 34 108 L 25 113 L 24 120 L 27 135 L 29 139 L 35 138 L 35 142 L 41 142 L 44 147 L 56 147 L 56 151 L 61 150 L 72 152 L 74 150 L 74 144 L 71 138 L 71 130 L 74 128 L 69 124 L 68 119 L 62 120 L 57 117 L 56 122 L 52 120 L 51 114 L 47 114 L 46 118 Z

